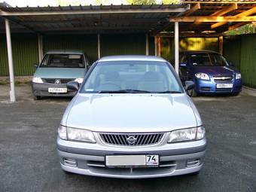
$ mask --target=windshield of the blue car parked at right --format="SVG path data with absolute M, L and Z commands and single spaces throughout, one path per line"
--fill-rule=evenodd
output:
M 227 66 L 224 56 L 217 53 L 193 53 L 190 58 L 193 66 Z

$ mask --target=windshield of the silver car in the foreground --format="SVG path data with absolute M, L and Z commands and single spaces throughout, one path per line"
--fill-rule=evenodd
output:
M 183 93 L 166 62 L 98 62 L 81 93 Z

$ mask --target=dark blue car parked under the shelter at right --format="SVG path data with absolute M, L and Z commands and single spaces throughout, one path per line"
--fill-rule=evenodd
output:
M 181 81 L 194 81 L 189 96 L 200 93 L 229 93 L 238 95 L 242 90 L 241 74 L 224 56 L 209 50 L 184 51 L 180 54 Z

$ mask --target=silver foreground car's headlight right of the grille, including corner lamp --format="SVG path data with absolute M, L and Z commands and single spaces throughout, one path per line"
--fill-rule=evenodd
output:
M 174 130 L 169 135 L 168 142 L 185 142 L 203 139 L 206 130 L 203 126 L 188 128 L 183 130 Z

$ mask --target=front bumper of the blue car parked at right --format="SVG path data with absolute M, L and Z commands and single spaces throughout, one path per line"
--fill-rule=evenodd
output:
M 210 80 L 200 80 L 195 78 L 195 90 L 197 93 L 239 93 L 242 90 L 242 80 L 232 80 L 224 82 L 215 82 L 212 78 Z M 232 88 L 217 88 L 217 84 L 233 84 Z

